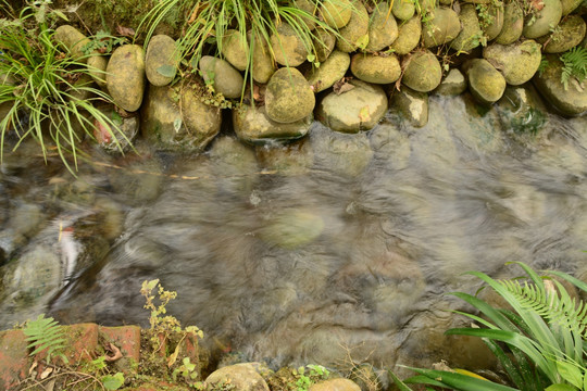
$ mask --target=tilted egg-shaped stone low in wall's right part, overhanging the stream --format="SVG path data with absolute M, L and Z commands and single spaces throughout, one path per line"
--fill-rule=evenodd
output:
M 470 60 L 463 68 L 469 79 L 469 89 L 480 103 L 492 104 L 501 98 L 505 90 L 505 79 L 487 60 Z

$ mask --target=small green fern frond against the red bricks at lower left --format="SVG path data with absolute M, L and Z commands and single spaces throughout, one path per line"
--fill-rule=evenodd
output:
M 52 354 L 57 354 L 65 363 L 67 362 L 62 352 L 65 348 L 63 328 L 52 317 L 46 318 L 43 314 L 39 315 L 37 319 L 26 324 L 23 332 L 27 337 L 26 341 L 30 342 L 27 348 L 35 349 L 30 352 L 32 356 L 47 350 L 47 362 L 51 360 Z

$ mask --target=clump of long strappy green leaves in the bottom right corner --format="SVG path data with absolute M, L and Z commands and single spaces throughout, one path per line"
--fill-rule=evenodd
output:
M 494 289 L 508 303 L 508 308 L 494 307 L 476 295 L 452 293 L 480 315 L 458 312 L 474 320 L 473 326 L 446 332 L 482 338 L 496 355 L 511 387 L 459 369 L 412 368 L 419 375 L 403 382 L 391 374 L 402 391 L 409 390 L 409 383 L 464 391 L 587 390 L 587 303 L 573 298 L 559 280 L 583 291 L 587 291 L 587 285 L 562 272 L 540 276 L 523 263 L 515 264 L 524 269 L 526 277 L 496 280 L 484 273 L 470 273 Z

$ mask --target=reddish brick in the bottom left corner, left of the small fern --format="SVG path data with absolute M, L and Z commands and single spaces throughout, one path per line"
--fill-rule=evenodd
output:
M 28 350 L 22 330 L 0 332 L 0 390 L 10 390 L 27 375 Z

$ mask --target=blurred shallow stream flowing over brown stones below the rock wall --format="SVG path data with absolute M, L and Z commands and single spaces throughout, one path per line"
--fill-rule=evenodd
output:
M 77 179 L 24 146 L 2 166 L 0 326 L 145 325 L 140 285 L 159 278 L 215 356 L 488 365 L 442 335 L 466 308 L 446 293 L 479 287 L 464 272 L 587 273 L 587 117 L 528 108 L 530 92 L 490 111 L 430 97 L 420 129 L 389 113 L 358 135 L 316 122 L 288 147 L 227 130 L 199 156 L 95 151 Z

